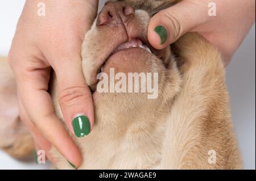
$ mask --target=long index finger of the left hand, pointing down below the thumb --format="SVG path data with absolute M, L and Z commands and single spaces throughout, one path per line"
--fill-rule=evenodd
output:
M 80 166 L 81 153 L 55 115 L 51 96 L 47 92 L 49 71 L 30 70 L 26 75 L 16 75 L 16 78 L 20 101 L 32 123 L 69 162 L 77 167 Z

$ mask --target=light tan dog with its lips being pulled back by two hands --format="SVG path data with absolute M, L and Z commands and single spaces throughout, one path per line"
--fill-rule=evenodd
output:
M 187 33 L 163 50 L 148 43 L 151 16 L 179 2 L 109 1 L 86 33 L 81 65 L 93 93 L 95 125 L 83 138 L 70 133 L 83 155 L 78 169 L 242 168 L 218 50 L 199 33 Z M 98 92 L 98 74 L 110 75 L 111 69 L 126 75 L 158 73 L 157 98 L 148 99 L 148 92 Z M 56 76 L 51 79 L 49 92 L 63 121 Z M 13 82 L 11 77 L 5 83 Z M 22 143 L 14 139 L 6 144 L 9 153 L 17 142 Z M 50 152 L 58 169 L 73 169 L 55 148 Z

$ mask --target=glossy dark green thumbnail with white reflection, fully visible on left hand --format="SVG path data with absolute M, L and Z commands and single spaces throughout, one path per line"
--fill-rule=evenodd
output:
M 77 116 L 72 122 L 76 137 L 84 137 L 90 133 L 90 121 L 86 116 Z

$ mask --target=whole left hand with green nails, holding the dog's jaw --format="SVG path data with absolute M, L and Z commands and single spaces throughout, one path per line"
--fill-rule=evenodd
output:
M 47 90 L 52 68 L 67 127 L 77 137 L 88 134 L 93 127 L 94 112 L 92 94 L 85 85 L 81 68 L 81 44 L 97 14 L 98 1 L 41 2 L 45 4 L 46 16 L 38 16 L 38 1 L 26 1 L 9 53 L 17 82 L 20 117 L 30 128 L 36 147 L 45 150 L 52 162 L 54 158 L 48 152 L 51 145 L 79 167 L 81 153 L 55 115 Z M 78 121 L 86 127 L 77 128 Z

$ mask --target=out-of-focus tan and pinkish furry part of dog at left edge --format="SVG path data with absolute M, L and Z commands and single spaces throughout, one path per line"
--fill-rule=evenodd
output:
M 0 149 L 17 159 L 34 150 L 32 136 L 19 119 L 15 78 L 4 57 L 0 57 Z

